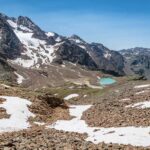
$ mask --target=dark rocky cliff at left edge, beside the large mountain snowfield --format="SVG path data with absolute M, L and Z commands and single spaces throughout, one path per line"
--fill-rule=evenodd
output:
M 14 80 L 15 69 L 7 59 L 16 59 L 22 51 L 22 44 L 7 23 L 7 16 L 0 14 L 0 80 Z M 13 18 L 12 18 L 13 20 Z

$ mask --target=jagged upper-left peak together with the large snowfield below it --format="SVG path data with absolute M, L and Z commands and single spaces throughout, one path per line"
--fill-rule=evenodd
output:
M 8 24 L 12 27 L 14 33 L 24 47 L 24 51 L 21 53 L 21 56 L 15 60 L 11 60 L 11 62 L 27 68 L 38 68 L 40 65 L 50 64 L 55 58 L 53 53 L 57 48 L 55 45 L 47 44 L 47 40 L 44 40 L 48 38 L 46 35 L 44 39 L 40 39 L 38 36 L 34 36 L 34 30 L 37 29 L 39 32 L 42 32 L 42 30 L 34 25 L 32 21 L 26 17 L 20 17 L 20 19 L 21 20 L 19 21 L 18 19 L 17 22 L 11 19 L 7 20 Z

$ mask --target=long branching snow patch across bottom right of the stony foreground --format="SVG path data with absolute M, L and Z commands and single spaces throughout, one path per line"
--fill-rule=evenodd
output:
M 87 141 L 95 144 L 100 142 L 131 144 L 133 146 L 150 146 L 150 127 L 112 127 L 112 128 L 96 128 L 89 127 L 81 116 L 84 111 L 89 109 L 91 105 L 77 105 L 70 107 L 70 115 L 75 116 L 72 120 L 59 120 L 56 123 L 47 126 L 56 130 L 68 132 L 87 133 Z

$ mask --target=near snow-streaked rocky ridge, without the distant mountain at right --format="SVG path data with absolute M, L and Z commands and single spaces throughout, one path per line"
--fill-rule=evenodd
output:
M 28 17 L 11 18 L 0 14 L 0 31 L 0 52 L 11 64 L 39 69 L 67 61 L 124 75 L 124 59 L 118 52 L 102 44 L 89 44 L 76 35 L 63 37 L 45 32 Z

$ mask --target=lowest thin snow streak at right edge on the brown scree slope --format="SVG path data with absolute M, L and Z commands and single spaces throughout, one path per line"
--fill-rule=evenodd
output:
M 145 101 L 145 102 L 139 102 L 139 103 L 135 103 L 135 104 L 131 104 L 126 106 L 127 108 L 131 107 L 131 108 L 141 108 L 141 109 L 145 109 L 145 108 L 150 108 L 150 101 Z

